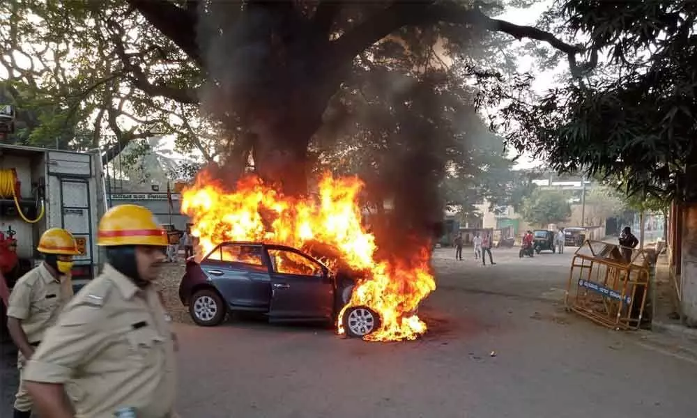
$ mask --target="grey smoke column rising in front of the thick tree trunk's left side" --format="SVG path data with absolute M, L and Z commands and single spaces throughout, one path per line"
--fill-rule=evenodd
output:
M 197 36 L 208 72 L 199 91 L 201 114 L 221 121 L 222 136 L 233 144 L 220 167 L 208 167 L 208 173 L 227 185 L 236 184 L 252 149 L 273 148 L 257 141 L 274 139 L 268 132 L 282 123 L 278 116 L 284 114 L 269 36 L 280 22 L 263 8 L 245 10 L 240 18 L 242 14 L 240 2 L 199 4 Z

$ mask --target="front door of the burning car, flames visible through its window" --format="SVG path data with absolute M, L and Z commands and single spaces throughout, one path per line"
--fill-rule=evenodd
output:
M 326 268 L 296 249 L 266 248 L 271 267 L 271 318 L 332 318 L 334 286 Z

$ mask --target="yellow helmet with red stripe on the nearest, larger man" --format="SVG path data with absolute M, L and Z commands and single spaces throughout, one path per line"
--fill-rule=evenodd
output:
M 107 210 L 99 221 L 97 245 L 167 245 L 167 231 L 150 210 L 138 205 L 119 205 Z

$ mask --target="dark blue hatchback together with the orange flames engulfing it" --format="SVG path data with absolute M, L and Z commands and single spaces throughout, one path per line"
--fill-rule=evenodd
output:
M 244 310 L 271 320 L 333 319 L 339 334 L 366 341 L 424 334 L 418 307 L 436 289 L 430 242 L 412 237 L 397 252 L 378 251 L 363 222 L 362 187 L 355 176 L 324 173 L 316 192 L 285 196 L 254 174 L 232 186 L 199 173 L 181 202 L 207 254 L 189 263 L 181 286 L 194 320 L 213 325 Z

